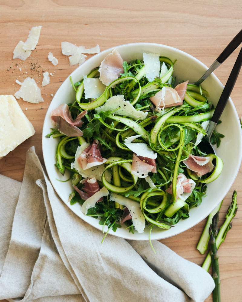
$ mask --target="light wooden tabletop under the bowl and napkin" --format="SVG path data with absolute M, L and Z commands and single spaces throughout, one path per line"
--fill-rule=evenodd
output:
M 192 0 L 168 2 L 122 0 L 0 0 L 0 94 L 8 95 L 19 89 L 15 80 L 34 77 L 41 88 L 42 71 L 51 72 L 50 84 L 42 87 L 43 103 L 30 104 L 18 100 L 22 110 L 34 126 L 35 134 L 0 160 L 0 173 L 18 181 L 22 180 L 25 153 L 35 146 L 43 162 L 41 133 L 44 117 L 61 83 L 77 67 L 61 54 L 60 43 L 68 41 L 78 46 L 100 45 L 101 50 L 132 42 L 153 42 L 183 50 L 207 66 L 217 58 L 224 47 L 241 30 L 241 0 Z M 12 59 L 19 42 L 25 41 L 33 26 L 42 25 L 39 42 L 25 61 Z M 48 60 L 51 51 L 59 60 L 53 66 Z M 215 71 L 223 85 L 226 83 L 239 48 Z M 21 71 L 19 70 L 21 67 Z M 34 69 L 32 69 L 35 67 Z M 231 94 L 239 117 L 242 115 L 242 72 Z M 219 249 L 221 275 L 221 300 L 242 300 L 242 188 L 241 169 L 224 198 L 221 221 L 225 215 L 234 189 L 238 191 L 239 210 L 233 228 Z M 162 243 L 179 255 L 201 265 L 204 255 L 196 250 L 205 220 L 186 232 Z M 212 297 L 206 300 L 212 301 Z

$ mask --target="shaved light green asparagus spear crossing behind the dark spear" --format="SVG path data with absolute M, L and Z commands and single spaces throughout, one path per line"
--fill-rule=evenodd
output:
M 225 216 L 225 221 L 224 224 L 221 226 L 217 237 L 216 237 L 216 246 L 217 249 L 220 247 L 221 243 L 224 242 L 224 239 L 227 235 L 228 230 L 231 229 L 232 223 L 231 220 L 232 218 L 236 215 L 238 209 L 238 204 L 237 204 L 237 191 L 234 190 L 233 196 L 232 196 L 232 202 L 227 210 L 226 216 Z M 202 268 L 204 268 L 206 271 L 209 270 L 209 267 L 211 265 L 211 256 L 208 254 L 206 259 L 203 262 Z

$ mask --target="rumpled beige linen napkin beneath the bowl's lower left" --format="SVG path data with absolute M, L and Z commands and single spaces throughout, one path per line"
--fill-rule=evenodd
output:
M 158 241 L 127 241 L 77 217 L 54 191 L 34 147 L 23 182 L 0 175 L 0 300 L 204 301 L 211 276 Z

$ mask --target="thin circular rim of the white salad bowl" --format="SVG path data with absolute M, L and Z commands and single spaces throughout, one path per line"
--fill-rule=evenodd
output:
M 159 46 L 159 47 L 162 46 L 162 47 L 165 47 L 165 48 L 168 48 L 168 49 L 172 49 L 172 50 L 174 50 L 175 52 L 181 53 L 182 55 L 185 55 L 185 56 L 187 56 L 187 57 L 190 57 L 190 58 L 192 58 L 192 59 L 195 59 L 195 61 L 196 61 L 199 65 L 201 65 L 201 66 L 204 67 L 204 70 L 205 70 L 205 69 L 208 69 L 208 67 L 207 67 L 204 63 L 202 63 L 202 62 L 201 62 L 200 60 L 198 60 L 196 57 L 190 55 L 189 53 L 186 53 L 186 52 L 183 51 L 183 50 L 180 50 L 180 49 L 178 49 L 178 48 L 175 48 L 175 47 L 172 47 L 172 46 L 168 46 L 168 45 L 165 45 L 165 44 L 160 44 L 160 43 L 150 43 L 150 42 L 126 43 L 126 44 L 120 44 L 120 45 L 117 45 L 117 46 L 114 46 L 114 47 L 110 47 L 110 48 L 107 48 L 107 49 L 105 49 L 105 50 L 102 50 L 100 53 L 97 53 L 97 54 L 95 54 L 94 56 L 90 57 L 90 58 L 89 58 L 88 60 L 86 60 L 83 64 L 85 64 L 86 62 L 89 62 L 89 63 L 91 62 L 91 63 L 92 63 L 92 61 L 94 61 L 94 60 L 96 59 L 96 56 L 100 56 L 100 54 L 103 54 L 103 53 L 105 53 L 105 52 L 106 52 L 106 53 L 111 52 L 111 51 L 112 51 L 114 48 L 116 48 L 116 47 L 125 47 L 125 46 L 131 46 L 131 45 L 153 45 L 153 46 Z M 74 69 L 74 70 L 67 76 L 67 78 L 64 80 L 64 82 L 60 85 L 60 87 L 59 87 L 59 88 L 57 89 L 57 91 L 55 92 L 55 94 L 54 94 L 52 100 L 54 99 L 54 97 L 55 97 L 55 95 L 57 94 L 57 92 L 61 89 L 61 86 L 64 85 L 65 82 L 69 81 L 70 76 L 72 76 L 74 73 L 76 73 L 78 69 L 83 68 L 83 64 L 81 64 L 80 66 L 77 66 L 77 68 Z M 217 80 L 217 82 L 219 83 L 219 85 L 221 86 L 221 88 L 222 88 L 222 89 L 224 88 L 224 86 L 222 85 L 221 81 L 217 78 L 217 76 L 216 76 L 214 73 L 212 73 L 210 76 L 215 77 L 215 79 Z M 237 116 L 237 119 L 236 119 L 236 120 L 237 120 L 237 126 L 240 127 L 240 120 L 239 120 L 239 117 L 238 117 L 238 113 L 237 113 L 237 110 L 236 110 L 236 108 L 235 108 L 235 106 L 234 106 L 234 103 L 233 103 L 233 101 L 232 101 L 231 98 L 228 99 L 228 103 L 230 103 L 230 105 L 231 105 L 231 108 L 232 108 L 232 110 L 233 110 L 233 114 L 235 114 L 235 115 Z M 46 115 L 45 115 L 45 118 L 44 118 L 43 127 L 42 127 L 42 153 L 43 153 L 45 168 L 46 168 L 47 165 L 46 165 L 46 159 L 45 159 L 45 156 L 44 156 L 44 138 L 45 138 L 45 135 L 44 135 L 44 127 L 45 127 L 45 124 L 46 124 L 47 119 L 49 118 L 50 107 L 51 107 L 50 105 L 51 105 L 51 103 L 50 103 L 49 106 L 48 106 L 48 109 L 47 109 L 47 112 L 46 112 Z M 240 156 L 239 156 L 239 158 L 240 158 L 240 164 L 241 164 L 241 160 L 242 160 L 242 131 L 240 131 L 240 148 L 239 148 L 239 151 L 240 151 Z M 236 173 L 234 174 L 234 178 L 233 178 L 233 180 L 232 180 L 232 182 L 231 182 L 231 186 L 233 185 L 233 183 L 234 183 L 234 181 L 235 181 L 235 179 L 236 179 L 236 177 L 237 177 L 237 174 L 238 174 L 238 172 L 239 172 L 239 169 L 240 169 L 240 165 L 238 165 L 237 171 L 236 171 Z M 48 175 L 48 177 L 49 177 L 49 179 L 50 179 L 50 181 L 51 181 L 51 184 L 52 184 L 54 190 L 56 191 L 56 193 L 58 194 L 59 198 L 64 202 L 64 204 L 67 205 L 67 207 L 69 207 L 69 208 L 72 210 L 70 204 L 67 204 L 67 202 L 64 201 L 64 200 L 61 198 L 61 193 L 60 193 L 60 191 L 58 190 L 58 188 L 54 185 L 54 183 L 52 182 L 51 177 L 50 177 L 50 174 L 49 174 L 49 171 L 48 171 L 47 168 L 46 168 L 46 171 L 47 171 L 47 175 Z M 227 191 L 226 191 L 226 193 L 224 194 L 223 198 L 226 196 L 226 194 L 227 194 L 228 191 L 230 190 L 231 186 L 227 189 Z M 217 202 L 217 204 L 218 204 L 218 203 L 219 203 L 219 201 Z M 214 210 L 214 208 L 217 206 L 217 204 L 214 205 L 214 207 L 211 209 L 211 211 Z M 73 211 L 73 210 L 72 210 L 72 211 Z M 162 231 L 162 232 L 160 232 L 160 234 L 162 234 L 162 236 L 160 235 L 161 237 L 160 237 L 160 236 L 157 236 L 157 234 L 159 234 L 159 232 L 157 232 L 157 233 L 152 233 L 152 235 L 155 235 L 155 236 L 152 236 L 151 239 L 152 239 L 152 240 L 165 239 L 165 238 L 169 238 L 169 237 L 172 237 L 172 236 L 176 236 L 176 235 L 178 235 L 178 234 L 180 234 L 180 233 L 183 233 L 183 232 L 185 232 L 185 231 L 191 229 L 192 227 L 194 227 L 194 226 L 197 225 L 198 223 L 200 223 L 202 220 L 204 220 L 204 219 L 211 213 L 211 211 L 209 211 L 209 213 L 206 214 L 205 216 L 203 216 L 202 218 L 199 218 L 199 220 L 198 220 L 197 222 L 193 223 L 191 226 L 189 226 L 189 227 L 186 228 L 185 230 L 178 231 L 176 234 L 173 234 L 173 235 L 168 235 L 168 234 L 165 235 L 166 232 L 163 232 L 163 231 Z M 74 212 L 74 211 L 73 211 L 73 212 Z M 81 217 L 81 216 L 78 215 L 77 213 L 74 212 L 74 214 L 76 214 L 78 217 L 80 217 L 80 218 L 81 218 L 82 220 L 84 220 L 85 222 L 89 223 L 87 220 L 83 219 L 83 217 Z M 82 214 L 82 212 L 81 212 L 81 214 Z M 89 224 L 90 224 L 90 223 L 89 223 Z M 96 226 L 95 224 L 91 224 L 91 225 L 94 226 L 96 229 L 101 230 L 101 228 L 98 227 L 99 225 L 97 225 L 97 226 Z M 102 227 L 102 226 L 101 226 L 101 227 Z M 107 230 L 107 226 L 105 227 L 105 230 Z M 118 236 L 118 237 L 121 237 L 121 238 L 124 238 L 124 239 L 129 239 L 129 240 L 149 240 L 149 238 L 137 238 L 138 236 L 133 236 L 133 235 L 135 235 L 135 234 L 132 234 L 132 236 L 129 236 L 130 233 L 128 233 L 128 232 L 127 232 L 127 236 L 123 236 L 123 235 L 120 236 L 118 233 L 114 233 L 112 230 L 109 231 L 109 234 L 110 234 L 110 235 L 113 235 L 113 236 Z M 139 234 L 139 233 L 137 233 L 137 234 Z M 154 238 L 153 238 L 153 237 L 154 237 Z

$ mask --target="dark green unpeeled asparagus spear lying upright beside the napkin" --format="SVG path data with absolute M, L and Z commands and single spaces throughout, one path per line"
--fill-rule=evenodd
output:
M 214 215 L 212 224 L 209 227 L 210 234 L 210 256 L 212 262 L 212 277 L 214 279 L 215 288 L 213 290 L 213 302 L 220 302 L 220 275 L 219 275 L 219 266 L 218 266 L 218 254 L 215 238 L 217 236 L 217 222 L 219 217 L 219 211 Z

